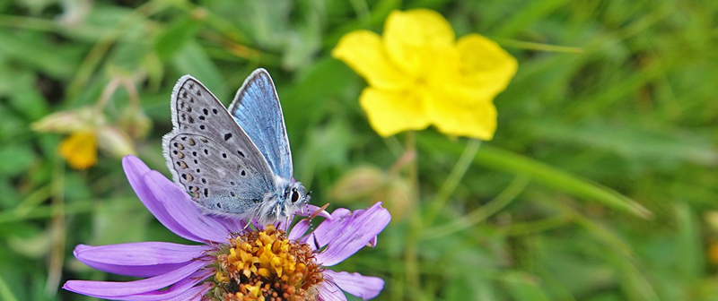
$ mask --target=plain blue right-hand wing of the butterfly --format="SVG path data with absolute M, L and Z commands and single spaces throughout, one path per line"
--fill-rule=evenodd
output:
M 275 84 L 265 69 L 244 82 L 229 107 L 237 124 L 250 136 L 277 176 L 292 177 L 292 151 L 286 137 L 285 117 Z

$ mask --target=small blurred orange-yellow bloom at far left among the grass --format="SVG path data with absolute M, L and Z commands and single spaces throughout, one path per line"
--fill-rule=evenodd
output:
M 60 157 L 75 169 L 90 168 L 97 163 L 97 138 L 92 132 L 73 133 L 60 142 Z

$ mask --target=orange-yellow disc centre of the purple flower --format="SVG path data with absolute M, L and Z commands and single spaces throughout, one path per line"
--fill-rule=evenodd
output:
M 215 288 L 207 293 L 215 301 L 316 300 L 324 280 L 310 246 L 273 225 L 230 239 L 216 258 Z

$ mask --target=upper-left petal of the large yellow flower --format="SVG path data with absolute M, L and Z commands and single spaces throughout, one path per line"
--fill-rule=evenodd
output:
M 368 30 L 355 30 L 339 39 L 331 56 L 348 64 L 372 87 L 395 90 L 404 87 L 408 78 L 391 63 L 381 37 Z

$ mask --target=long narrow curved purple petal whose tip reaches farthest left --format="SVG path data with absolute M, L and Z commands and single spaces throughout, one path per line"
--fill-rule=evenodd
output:
M 195 271 L 205 267 L 207 262 L 196 261 L 189 262 L 184 267 L 175 271 L 147 278 L 144 280 L 135 280 L 128 282 L 114 281 L 87 281 L 87 280 L 69 280 L 62 288 L 69 291 L 109 299 L 110 297 L 127 297 L 128 295 L 142 294 L 166 288 L 180 280 L 187 278 Z

